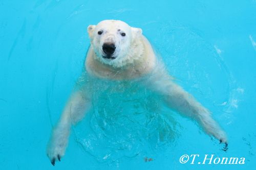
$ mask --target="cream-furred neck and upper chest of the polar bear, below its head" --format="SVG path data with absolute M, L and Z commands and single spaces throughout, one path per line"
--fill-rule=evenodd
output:
M 136 49 L 133 49 L 133 52 L 135 53 L 132 58 L 136 59 L 133 61 L 126 61 L 130 63 L 118 68 L 98 61 L 95 57 L 96 54 L 94 53 L 93 47 L 90 46 L 85 62 L 87 72 L 98 78 L 114 80 L 135 79 L 148 74 L 156 65 L 156 54 L 153 47 L 143 35 L 134 43 L 134 48 Z

